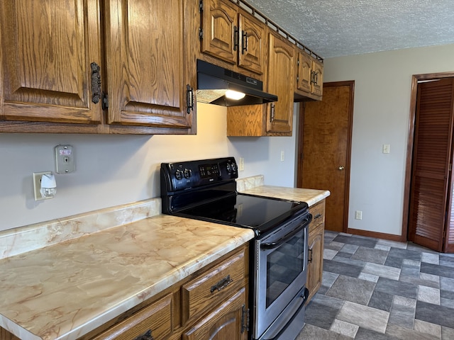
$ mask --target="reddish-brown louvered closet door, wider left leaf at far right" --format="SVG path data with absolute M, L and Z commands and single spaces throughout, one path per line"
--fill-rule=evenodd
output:
M 450 164 L 453 143 L 454 79 L 419 84 L 409 239 L 436 251 L 443 250 Z

